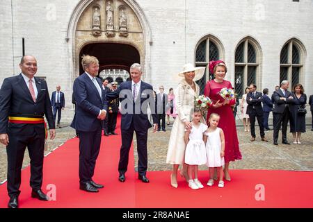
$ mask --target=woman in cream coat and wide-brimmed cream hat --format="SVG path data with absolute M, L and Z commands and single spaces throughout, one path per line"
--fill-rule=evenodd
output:
M 204 74 L 205 67 L 193 67 L 191 64 L 184 65 L 183 71 L 178 75 L 184 77 L 175 90 L 176 109 L 178 118 L 175 119 L 170 133 L 168 143 L 168 155 L 166 163 L 172 164 L 172 174 L 170 175 L 170 185 L 177 188 L 177 171 L 179 165 L 183 164 L 180 174 L 188 181 L 187 167 L 184 164 L 185 148 L 184 142 L 185 128 L 191 128 L 191 112 L 194 108 L 195 97 L 199 96 L 199 86 L 195 83 Z

